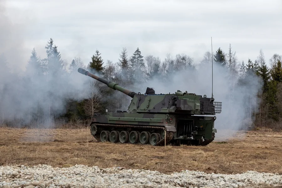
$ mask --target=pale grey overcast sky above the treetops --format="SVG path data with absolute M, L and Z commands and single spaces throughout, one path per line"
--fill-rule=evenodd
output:
M 281 0 L 7 0 L 0 11 L 8 19 L 1 30 L 12 24 L 8 39 L 20 40 L 22 65 L 34 47 L 44 58 L 50 38 L 69 63 L 81 56 L 87 64 L 96 49 L 116 62 L 123 47 L 128 55 L 139 47 L 144 56 L 185 53 L 199 61 L 211 37 L 213 51 L 231 43 L 240 62 L 254 61 L 260 49 L 267 63 L 282 55 Z

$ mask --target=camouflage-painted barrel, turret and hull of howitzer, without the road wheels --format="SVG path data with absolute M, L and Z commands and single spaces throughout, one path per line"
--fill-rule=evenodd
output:
M 155 127 L 164 128 L 171 134 L 171 138 L 173 134 L 173 140 L 190 139 L 209 142 L 217 132 L 214 128 L 216 120 L 214 115 L 221 112 L 221 102 L 214 102 L 214 98 L 179 90 L 174 94 L 154 94 L 154 90 L 153 94 L 137 94 L 84 69 L 79 68 L 78 72 L 132 97 L 128 112 L 109 113 L 92 118 L 91 124 L 97 126 L 98 134 L 103 127 L 113 130 L 116 126 L 119 131 L 126 131 L 126 127 L 134 128 L 134 126 L 136 130 Z M 204 115 L 213 115 L 213 117 Z

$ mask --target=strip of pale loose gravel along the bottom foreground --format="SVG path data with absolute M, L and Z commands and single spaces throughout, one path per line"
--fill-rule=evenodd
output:
M 282 175 L 247 171 L 242 174 L 206 174 L 183 170 L 170 175 L 150 170 L 101 169 L 75 165 L 0 166 L 0 187 L 244 187 L 282 185 Z

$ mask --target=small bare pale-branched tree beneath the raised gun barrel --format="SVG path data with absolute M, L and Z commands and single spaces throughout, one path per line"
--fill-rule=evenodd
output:
M 84 104 L 84 111 L 86 115 L 93 117 L 93 115 L 101 110 L 101 86 L 99 86 L 98 81 L 89 80 L 89 84 L 86 90 L 86 97 Z

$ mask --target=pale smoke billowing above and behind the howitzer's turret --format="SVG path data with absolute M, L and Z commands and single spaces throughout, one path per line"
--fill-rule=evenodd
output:
M 153 87 L 156 94 L 172 94 L 180 90 L 212 97 L 211 64 L 203 64 L 196 70 L 175 72 L 165 82 L 160 80 L 156 78 L 149 81 L 135 92 L 144 93 L 147 87 Z M 229 138 L 234 131 L 253 126 L 253 113 L 258 112 L 260 105 L 258 93 L 262 89 L 262 80 L 259 76 L 250 75 L 245 76 L 241 82 L 239 75 L 232 77 L 227 67 L 213 64 L 213 97 L 215 102 L 222 102 L 222 112 L 215 115 L 217 135 L 225 134 Z

